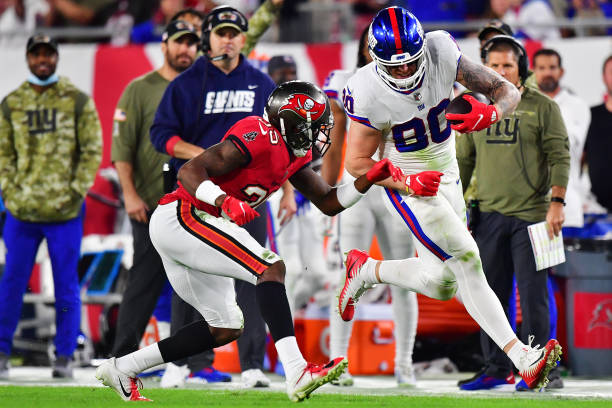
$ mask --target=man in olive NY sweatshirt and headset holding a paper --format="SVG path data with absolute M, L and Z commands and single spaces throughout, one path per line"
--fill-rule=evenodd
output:
M 495 36 L 483 45 L 482 57 L 486 66 L 519 89 L 521 101 L 514 113 L 491 127 L 457 138 L 461 181 L 468 186 L 473 172 L 478 180 L 480 221 L 473 226 L 473 236 L 487 281 L 500 302 L 507 310 L 515 276 L 523 312 L 521 332 L 532 333 L 534 344 L 545 344 L 550 333 L 548 271 L 536 271 L 527 226 L 546 221 L 550 238 L 561 231 L 569 177 L 567 132 L 557 104 L 524 86 L 528 60 L 518 41 Z M 484 332 L 481 346 L 486 366 L 460 388 L 513 384 L 512 363 Z

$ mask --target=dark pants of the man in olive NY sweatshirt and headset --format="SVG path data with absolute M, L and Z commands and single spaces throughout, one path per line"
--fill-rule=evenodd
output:
M 482 212 L 473 234 L 489 286 L 499 298 L 506 316 L 510 296 L 514 296 L 512 278 L 516 277 L 523 316 L 521 340 L 527 343 L 528 336 L 533 334 L 533 346 L 544 346 L 550 335 L 546 287 L 548 270 L 536 271 L 527 232 L 527 226 L 530 224 L 532 223 L 516 217 Z M 482 330 L 480 344 L 487 365 L 486 374 L 506 377 L 512 371 L 512 362 L 508 356 Z

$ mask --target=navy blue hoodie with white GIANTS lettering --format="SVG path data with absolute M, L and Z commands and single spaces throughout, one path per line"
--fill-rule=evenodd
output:
M 151 126 L 151 142 L 158 151 L 170 153 L 168 141 L 179 136 L 206 149 L 240 119 L 262 116 L 274 88 L 270 77 L 242 55 L 229 74 L 200 57 L 166 88 Z M 185 162 L 173 157 L 170 165 L 178 171 Z

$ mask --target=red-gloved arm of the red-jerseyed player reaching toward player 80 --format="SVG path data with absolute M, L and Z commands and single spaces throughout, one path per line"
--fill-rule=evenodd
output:
M 375 162 L 365 174 L 354 182 L 332 188 L 311 168 L 305 167 L 289 180 L 304 197 L 316 205 L 325 215 L 333 216 L 356 204 L 361 197 L 377 182 L 392 178 L 402 180 L 402 171 L 391 164 L 389 159 Z

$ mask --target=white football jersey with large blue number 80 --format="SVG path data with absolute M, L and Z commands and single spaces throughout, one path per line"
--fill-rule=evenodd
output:
M 452 99 L 461 51 L 446 31 L 425 37 L 427 65 L 416 90 L 391 89 L 371 62 L 349 79 L 341 97 L 352 120 L 382 132 L 383 157 L 406 173 L 438 170 L 458 177 L 454 132 L 444 113 Z

